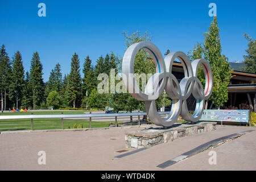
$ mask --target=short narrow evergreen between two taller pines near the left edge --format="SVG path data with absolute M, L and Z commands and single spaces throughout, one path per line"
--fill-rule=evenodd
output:
M 26 72 L 26 78 L 24 81 L 24 90 L 23 90 L 23 99 L 22 105 L 28 109 L 28 107 L 32 107 L 33 98 L 32 98 L 32 85 L 30 81 L 30 73 Z

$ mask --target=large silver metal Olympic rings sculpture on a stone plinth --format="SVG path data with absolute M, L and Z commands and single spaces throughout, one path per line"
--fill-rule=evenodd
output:
M 134 77 L 134 59 L 140 49 L 146 50 L 154 60 L 156 73 L 152 75 L 146 84 L 144 92 L 139 88 Z M 172 74 L 172 64 L 179 59 L 184 69 L 184 78 L 179 82 Z M 197 78 L 199 66 L 204 70 L 205 87 Z M 183 52 L 172 52 L 163 58 L 158 47 L 151 42 L 139 42 L 127 48 L 122 61 L 123 83 L 131 96 L 144 101 L 145 108 L 150 120 L 159 126 L 172 126 L 179 115 L 186 121 L 196 122 L 201 118 L 204 111 L 205 100 L 208 100 L 213 89 L 212 70 L 205 59 L 197 59 L 191 62 Z M 155 100 L 166 90 L 172 99 L 170 114 L 163 119 L 158 114 Z M 191 95 L 196 99 L 195 112 L 191 115 L 188 111 L 187 98 Z

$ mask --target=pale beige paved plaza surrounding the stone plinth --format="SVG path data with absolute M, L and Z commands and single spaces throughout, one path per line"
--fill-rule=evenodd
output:
M 125 132 L 142 127 L 108 130 L 0 134 L 0 170 L 256 170 L 256 127 L 220 126 L 216 131 L 159 144 L 124 158 Z M 167 168 L 158 168 L 186 151 L 210 140 L 254 130 Z M 46 165 L 38 164 L 38 152 L 46 152 Z M 210 165 L 209 151 L 217 164 Z M 124 153 L 121 153 L 124 154 Z

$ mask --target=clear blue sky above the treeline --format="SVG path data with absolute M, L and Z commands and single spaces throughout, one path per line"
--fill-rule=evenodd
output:
M 46 17 L 38 16 L 38 4 L 46 4 Z M 39 52 L 43 78 L 59 62 L 63 75 L 77 53 L 80 65 L 89 55 L 93 65 L 100 55 L 125 52 L 121 33 L 148 31 L 164 54 L 167 49 L 187 53 L 203 43 L 213 17 L 209 3 L 216 3 L 222 53 L 229 61 L 241 61 L 247 48 L 243 34 L 256 36 L 256 1 L 3 1 L 0 2 L 0 44 L 12 57 L 20 51 L 25 71 L 32 53 Z

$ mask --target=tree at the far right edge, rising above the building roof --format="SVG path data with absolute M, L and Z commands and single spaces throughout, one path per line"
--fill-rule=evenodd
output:
M 247 55 L 243 56 L 245 59 L 245 68 L 242 68 L 242 71 L 249 73 L 256 73 L 256 42 L 249 37 L 248 34 L 244 34 L 246 40 L 249 41 L 248 49 L 246 49 Z

